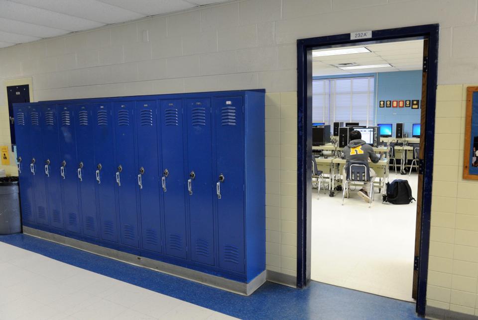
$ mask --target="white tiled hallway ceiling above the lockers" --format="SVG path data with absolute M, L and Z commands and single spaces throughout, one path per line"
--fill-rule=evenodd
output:
M 227 0 L 0 0 L 0 48 Z

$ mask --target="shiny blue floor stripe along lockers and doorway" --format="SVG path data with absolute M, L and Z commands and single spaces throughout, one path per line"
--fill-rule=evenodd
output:
M 266 282 L 244 297 L 22 234 L 0 241 L 240 319 L 420 319 L 413 303 L 314 281 L 306 289 Z

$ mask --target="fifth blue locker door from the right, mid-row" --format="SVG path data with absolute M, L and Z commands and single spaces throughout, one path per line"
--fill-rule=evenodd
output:
M 118 190 L 118 212 L 120 239 L 122 244 L 139 246 L 139 227 L 137 213 L 137 166 L 134 149 L 134 102 L 115 102 L 115 137 L 116 137 L 116 165 Z

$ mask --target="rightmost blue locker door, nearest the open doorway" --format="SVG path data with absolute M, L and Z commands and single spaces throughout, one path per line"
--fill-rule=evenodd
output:
M 242 98 L 214 98 L 219 266 L 244 272 Z

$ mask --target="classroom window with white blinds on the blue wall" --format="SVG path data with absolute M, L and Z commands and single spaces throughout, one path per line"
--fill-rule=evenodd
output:
M 374 77 L 313 79 L 312 122 L 373 125 Z

